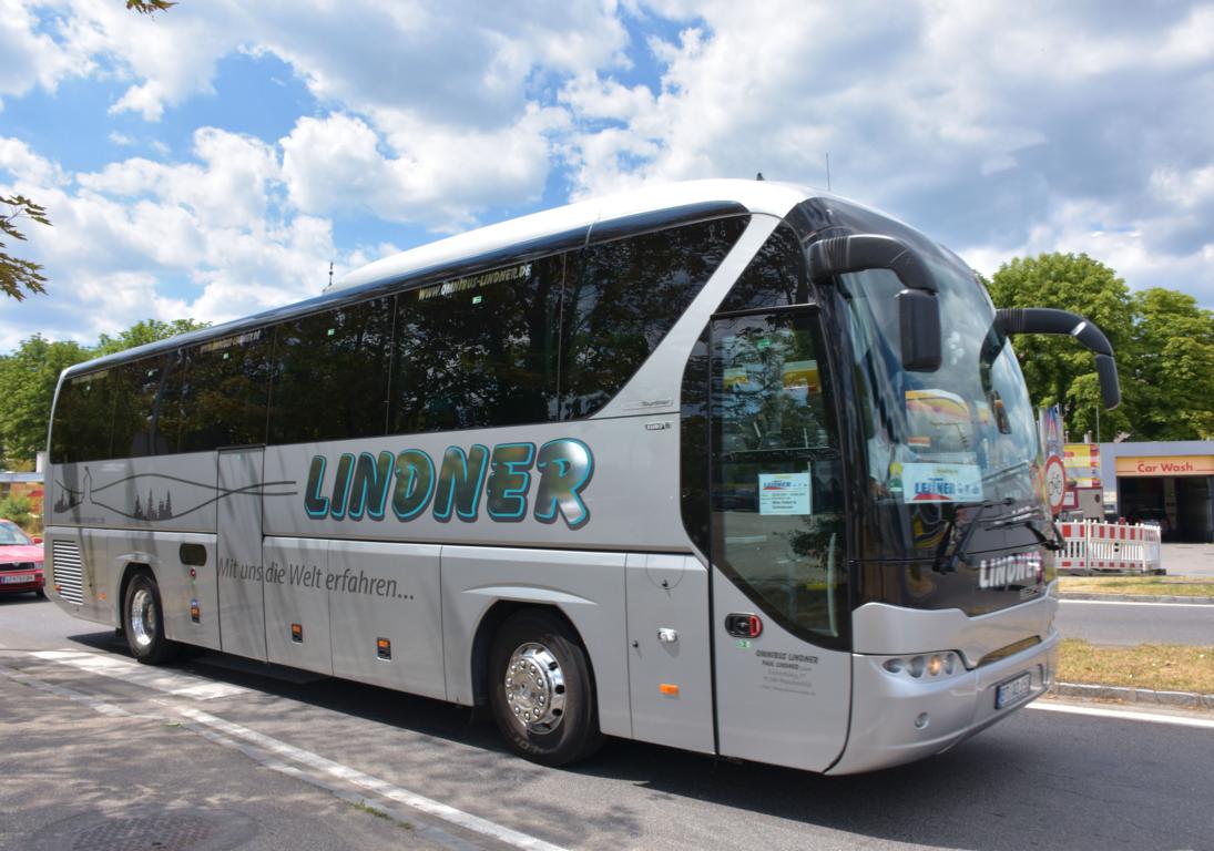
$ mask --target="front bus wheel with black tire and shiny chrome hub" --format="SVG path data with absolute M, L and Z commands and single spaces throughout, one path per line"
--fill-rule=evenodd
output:
M 602 744 L 586 651 L 551 612 L 526 609 L 501 624 L 489 651 L 489 677 L 493 716 L 518 755 L 560 766 L 590 756 Z M 540 696 L 546 699 L 539 702 Z M 531 711 L 535 717 L 528 721 L 523 715 Z

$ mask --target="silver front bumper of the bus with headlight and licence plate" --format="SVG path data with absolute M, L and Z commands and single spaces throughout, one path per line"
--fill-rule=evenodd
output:
M 1057 657 L 1053 628 L 1040 643 L 951 676 L 891 673 L 891 657 L 853 653 L 851 732 L 827 773 L 885 768 L 952 748 L 1045 693 Z M 997 705 L 1000 696 L 1004 705 Z

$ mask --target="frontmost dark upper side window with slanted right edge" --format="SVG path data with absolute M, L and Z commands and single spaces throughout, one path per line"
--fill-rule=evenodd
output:
M 590 245 L 571 277 L 561 363 L 561 419 L 602 408 L 649 357 L 749 217 Z

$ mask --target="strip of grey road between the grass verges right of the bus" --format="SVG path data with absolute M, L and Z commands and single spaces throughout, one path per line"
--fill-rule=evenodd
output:
M 1214 646 L 1214 606 L 1063 600 L 1059 630 L 1094 645 L 1174 643 Z

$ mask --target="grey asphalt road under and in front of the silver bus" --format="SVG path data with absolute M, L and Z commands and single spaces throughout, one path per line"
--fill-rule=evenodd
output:
M 0 668 L 6 849 L 70 847 L 66 838 L 80 835 L 83 822 L 62 819 L 98 812 L 126 813 L 125 824 L 232 826 L 228 844 L 206 846 L 216 849 L 1214 843 L 1209 726 L 1025 709 L 947 754 L 858 777 L 629 742 L 550 770 L 507 754 L 492 722 L 448 704 L 280 679 L 215 654 L 169 669 L 136 665 L 112 630 L 49 602 L 0 600 Z

